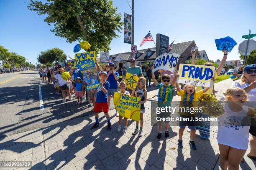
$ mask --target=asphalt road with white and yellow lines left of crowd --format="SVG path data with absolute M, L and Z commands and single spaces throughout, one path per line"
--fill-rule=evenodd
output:
M 0 138 L 94 114 L 88 103 L 74 105 L 75 97 L 73 102 L 63 103 L 52 84 L 42 83 L 38 70 L 0 74 L 0 85 Z M 44 109 L 40 107 L 39 85 Z M 110 110 L 114 109 L 110 103 Z

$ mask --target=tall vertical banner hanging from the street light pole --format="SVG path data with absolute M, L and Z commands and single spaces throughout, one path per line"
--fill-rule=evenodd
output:
M 131 15 L 123 13 L 123 42 L 131 44 L 132 36 L 132 25 L 131 25 Z

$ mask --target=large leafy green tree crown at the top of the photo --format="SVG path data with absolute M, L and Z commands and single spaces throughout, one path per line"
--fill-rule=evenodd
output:
M 120 37 L 123 22 L 112 0 L 30 0 L 29 10 L 46 15 L 44 21 L 53 25 L 54 35 L 67 42 L 88 41 L 90 50 L 109 51 L 113 38 Z

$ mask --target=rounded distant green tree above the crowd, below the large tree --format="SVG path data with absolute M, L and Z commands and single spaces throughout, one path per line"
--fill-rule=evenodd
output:
M 38 62 L 45 65 L 52 65 L 53 62 L 64 62 L 66 59 L 67 55 L 59 48 L 42 51 L 37 58 Z

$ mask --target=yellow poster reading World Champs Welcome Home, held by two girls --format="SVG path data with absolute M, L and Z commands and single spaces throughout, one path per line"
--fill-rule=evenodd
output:
M 141 113 L 141 104 L 138 101 L 141 97 L 124 95 L 119 92 L 114 94 L 114 105 L 120 116 L 139 121 Z

